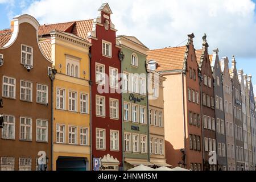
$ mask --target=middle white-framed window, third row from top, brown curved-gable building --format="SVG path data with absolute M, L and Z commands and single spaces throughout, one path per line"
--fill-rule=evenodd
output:
M 32 119 L 20 118 L 20 139 L 32 140 Z

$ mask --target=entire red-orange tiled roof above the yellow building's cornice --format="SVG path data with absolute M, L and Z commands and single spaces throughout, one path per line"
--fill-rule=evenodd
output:
M 92 31 L 93 19 L 67 23 L 46 24 L 39 27 L 39 36 L 49 35 L 51 31 L 67 32 L 88 40 L 88 33 Z

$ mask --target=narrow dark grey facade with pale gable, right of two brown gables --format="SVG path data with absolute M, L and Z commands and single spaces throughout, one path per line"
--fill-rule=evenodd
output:
M 213 69 L 214 79 L 214 95 L 215 95 L 215 121 L 216 121 L 216 137 L 217 137 L 217 163 L 219 171 L 226 171 L 228 168 L 227 152 L 226 152 L 226 121 L 225 109 L 228 102 L 224 101 L 224 88 L 220 58 L 218 49 L 213 50 L 211 65 Z

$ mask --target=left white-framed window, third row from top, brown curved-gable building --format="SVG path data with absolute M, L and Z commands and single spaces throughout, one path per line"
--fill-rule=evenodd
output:
M 3 115 L 2 138 L 4 139 L 15 139 L 15 117 L 11 115 Z

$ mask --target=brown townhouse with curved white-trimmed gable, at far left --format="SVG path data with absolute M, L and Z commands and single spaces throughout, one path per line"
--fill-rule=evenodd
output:
M 11 22 L 10 30 L 0 33 L 0 112 L 5 120 L 0 129 L 1 171 L 39 170 L 42 154 L 48 158 L 47 170 L 51 170 L 52 88 L 48 68 L 52 62 L 40 49 L 38 27 L 34 17 L 20 15 Z

